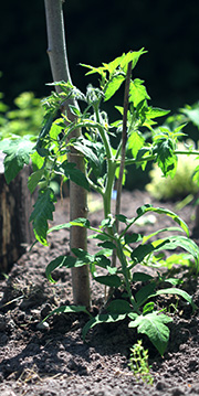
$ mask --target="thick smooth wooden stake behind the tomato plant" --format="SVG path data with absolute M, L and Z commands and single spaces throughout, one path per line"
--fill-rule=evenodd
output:
M 48 54 L 51 64 L 51 71 L 54 82 L 71 82 L 69 71 L 64 20 L 62 10 L 62 0 L 44 0 L 46 29 L 48 29 Z M 70 120 L 74 120 L 69 105 L 65 103 L 65 110 Z M 75 130 L 75 136 L 80 136 L 81 130 Z M 73 135 L 74 137 L 74 135 Z M 84 172 L 84 159 L 74 150 L 71 151 L 70 161 L 76 163 L 76 167 Z M 73 182 L 70 182 L 70 220 L 87 216 L 86 191 Z M 71 248 L 77 247 L 86 250 L 87 234 L 82 227 L 72 227 L 70 237 Z M 88 267 L 83 266 L 72 269 L 73 300 L 75 304 L 82 304 L 90 308 L 90 276 Z

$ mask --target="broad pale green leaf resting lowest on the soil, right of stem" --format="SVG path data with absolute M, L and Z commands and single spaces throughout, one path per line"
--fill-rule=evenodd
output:
M 137 317 L 128 327 L 137 328 L 138 333 L 146 334 L 163 356 L 169 340 L 169 329 L 165 324 L 171 321 L 171 318 L 155 311 Z

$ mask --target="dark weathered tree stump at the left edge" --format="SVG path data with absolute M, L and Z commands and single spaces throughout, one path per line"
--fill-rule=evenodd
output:
M 31 197 L 27 183 L 31 167 L 24 167 L 8 185 L 3 158 L 0 153 L 0 272 L 8 272 L 25 246 L 34 240 L 29 223 L 34 196 Z

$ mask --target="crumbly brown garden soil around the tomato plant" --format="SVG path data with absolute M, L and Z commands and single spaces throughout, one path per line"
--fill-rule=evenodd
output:
M 136 208 L 144 203 L 151 203 L 146 193 L 126 192 L 123 194 L 122 213 L 133 217 Z M 67 201 L 63 204 L 57 202 L 56 206 L 55 223 L 67 221 Z M 165 206 L 175 211 L 172 203 Z M 192 212 L 192 206 L 178 212 L 191 231 Z M 90 218 L 93 224 L 98 224 L 102 211 L 92 213 Z M 139 225 L 134 229 L 148 234 L 169 224 L 169 218 L 158 216 L 154 225 Z M 57 282 L 54 285 L 45 278 L 46 264 L 69 251 L 69 231 L 50 235 L 49 242 L 49 247 L 38 244 L 31 251 L 28 249 L 13 265 L 8 279 L 0 281 L 0 395 L 199 395 L 199 317 L 198 311 L 192 314 L 182 300 L 176 309 L 171 304 L 176 304 L 176 298 L 163 300 L 163 303 L 170 304 L 174 318 L 164 357 L 144 338 L 144 346 L 149 349 L 153 386 L 136 381 L 129 371 L 129 347 L 140 336 L 129 330 L 127 323 L 96 327 L 88 333 L 86 343 L 81 335 L 86 320 L 83 314 L 51 317 L 49 327 L 38 328 L 41 319 L 52 309 L 72 303 L 69 270 L 55 270 Z M 91 253 L 96 249 L 93 242 L 88 243 L 88 249 Z M 144 270 L 149 269 L 145 267 Z M 181 269 L 182 275 L 184 289 L 193 295 L 195 302 L 199 304 L 197 277 L 188 276 L 186 268 Z M 98 311 L 103 295 L 104 289 L 92 283 L 94 312 Z

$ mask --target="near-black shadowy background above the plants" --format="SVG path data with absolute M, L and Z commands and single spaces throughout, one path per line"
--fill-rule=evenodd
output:
M 153 105 L 176 110 L 198 100 L 199 4 L 172 0 L 67 0 L 64 4 L 73 83 L 84 89 L 80 62 L 100 65 L 145 46 L 136 73 L 145 79 Z M 0 90 L 12 104 L 21 92 L 49 95 L 43 0 L 2 2 L 0 13 Z

